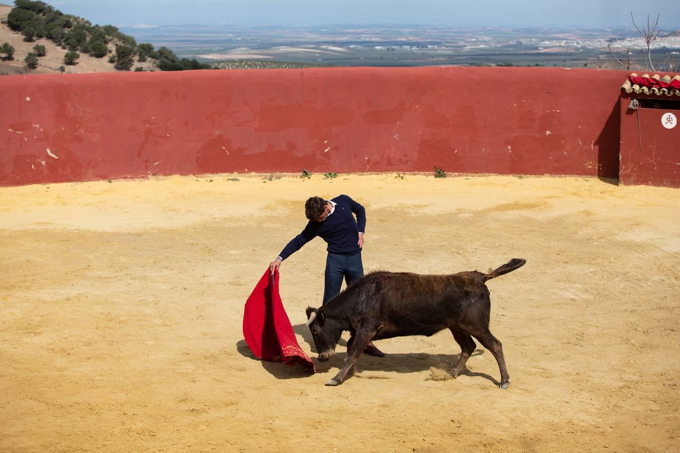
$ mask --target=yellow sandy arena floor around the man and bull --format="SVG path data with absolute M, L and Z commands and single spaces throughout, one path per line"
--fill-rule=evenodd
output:
M 583 178 L 258 176 L 0 188 L 0 451 L 671 452 L 680 448 L 680 191 Z M 367 208 L 364 268 L 488 283 L 510 388 L 448 331 L 357 376 L 262 363 L 243 304 L 308 196 Z M 281 293 L 313 356 L 324 242 Z M 347 339 L 347 335 L 343 337 Z M 344 343 L 341 343 L 344 344 Z M 479 344 L 479 342 L 477 342 Z

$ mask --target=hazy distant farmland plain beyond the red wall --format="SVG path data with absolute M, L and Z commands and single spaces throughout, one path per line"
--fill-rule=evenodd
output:
M 158 26 L 124 29 L 138 42 L 166 46 L 178 56 L 216 67 L 307 66 L 548 66 L 621 69 L 607 45 L 631 69 L 644 65 L 634 30 L 451 29 L 441 26 Z M 634 33 L 633 33 L 634 32 Z M 639 43 L 637 41 L 640 41 Z M 660 37 L 653 59 L 680 51 L 680 37 Z M 675 53 L 674 53 L 675 52 Z M 675 60 L 680 60 L 678 55 Z

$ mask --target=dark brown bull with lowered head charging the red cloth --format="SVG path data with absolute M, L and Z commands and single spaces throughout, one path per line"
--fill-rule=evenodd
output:
M 372 272 L 347 287 L 320 308 L 307 307 L 319 361 L 335 355 L 343 331 L 350 331 L 347 358 L 326 385 L 340 384 L 371 340 L 410 335 L 432 336 L 449 329 L 460 345 L 460 357 L 449 374 L 458 377 L 477 344 L 491 351 L 500 369 L 500 388 L 509 378 L 503 347 L 489 330 L 491 300 L 486 282 L 524 266 L 525 259 L 511 259 L 486 274 L 478 271 L 450 275 L 408 272 Z

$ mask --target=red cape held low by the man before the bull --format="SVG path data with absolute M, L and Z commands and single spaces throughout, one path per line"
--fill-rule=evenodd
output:
M 262 275 L 243 310 L 243 338 L 259 359 L 283 362 L 284 365 L 299 363 L 316 372 L 314 363 L 300 348 L 293 332 L 288 314 L 279 295 L 279 270 L 274 275 L 269 267 Z

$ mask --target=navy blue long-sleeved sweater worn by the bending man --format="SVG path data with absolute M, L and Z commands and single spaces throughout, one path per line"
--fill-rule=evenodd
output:
M 279 254 L 282 259 L 299 251 L 316 236 L 328 242 L 326 248 L 328 253 L 355 255 L 361 251 L 358 242 L 359 233 L 363 233 L 366 228 L 364 206 L 346 195 L 339 195 L 330 201 L 335 203 L 333 214 L 328 215 L 322 222 L 310 220 L 305 229 L 286 244 Z M 352 213 L 356 214 L 356 220 Z

